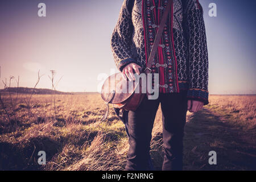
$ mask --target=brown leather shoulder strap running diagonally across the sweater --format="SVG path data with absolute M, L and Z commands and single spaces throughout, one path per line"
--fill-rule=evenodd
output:
M 163 30 L 164 30 L 164 24 L 166 24 L 166 22 L 167 22 L 167 17 L 168 17 L 169 11 L 171 9 L 172 3 L 173 3 L 173 0 L 168 0 L 166 10 L 164 10 L 163 18 L 160 22 L 158 32 L 156 33 L 156 36 L 155 36 L 155 41 L 154 41 L 152 50 L 150 52 L 150 57 L 148 58 L 148 61 L 147 61 L 147 67 L 144 71 L 145 73 L 150 73 L 151 72 L 150 68 L 151 68 L 151 65 L 152 65 L 154 57 L 155 57 L 156 49 L 159 46 L 159 42 L 160 42 L 161 36 L 163 34 Z

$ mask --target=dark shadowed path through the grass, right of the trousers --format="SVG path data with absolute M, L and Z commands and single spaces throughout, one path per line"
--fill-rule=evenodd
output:
M 184 170 L 255 170 L 255 136 L 255 129 L 245 129 L 230 117 L 204 108 L 185 126 Z M 216 165 L 208 162 L 210 151 L 217 153 Z M 158 170 L 162 158 L 154 159 Z

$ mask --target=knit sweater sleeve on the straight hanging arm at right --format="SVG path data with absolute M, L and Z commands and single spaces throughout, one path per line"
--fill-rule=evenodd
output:
M 207 105 L 209 104 L 208 50 L 203 8 L 199 0 L 187 0 L 184 15 L 189 50 L 189 90 L 187 97 Z

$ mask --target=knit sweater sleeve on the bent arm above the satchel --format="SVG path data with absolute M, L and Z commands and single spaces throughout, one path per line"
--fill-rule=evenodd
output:
M 115 64 L 121 72 L 127 64 L 137 63 L 137 61 L 133 59 L 131 51 L 131 40 L 134 27 L 133 22 L 131 21 L 130 9 L 131 5 L 129 0 L 125 0 L 110 40 Z

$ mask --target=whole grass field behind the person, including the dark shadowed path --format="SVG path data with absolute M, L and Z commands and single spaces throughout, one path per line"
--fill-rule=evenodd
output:
M 209 102 L 187 114 L 184 169 L 255 170 L 256 96 L 210 96 Z M 123 170 L 129 148 L 125 127 L 112 108 L 100 122 L 103 114 L 100 94 L 2 96 L 0 169 Z M 38 164 L 39 151 L 46 151 L 46 165 Z M 217 165 L 209 165 L 209 151 L 217 152 Z M 160 170 L 160 106 L 151 158 Z

